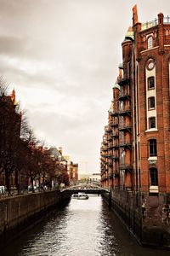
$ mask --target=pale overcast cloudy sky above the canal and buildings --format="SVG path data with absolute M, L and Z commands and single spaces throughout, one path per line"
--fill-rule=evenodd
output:
M 169 0 L 0 0 L 0 76 L 31 127 L 80 172 L 99 172 L 121 43 L 139 20 L 170 15 Z

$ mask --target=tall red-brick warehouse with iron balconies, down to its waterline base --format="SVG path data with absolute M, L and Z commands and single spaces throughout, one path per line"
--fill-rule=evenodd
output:
M 101 144 L 101 182 L 140 241 L 170 246 L 170 20 L 133 26 L 122 42 L 109 122 Z

